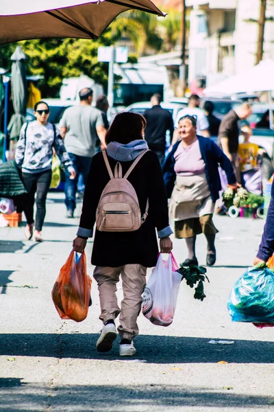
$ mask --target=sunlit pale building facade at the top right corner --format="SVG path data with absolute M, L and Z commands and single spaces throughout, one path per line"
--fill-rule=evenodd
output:
M 256 63 L 260 0 L 186 0 L 189 83 L 208 86 Z M 264 59 L 274 60 L 274 2 L 267 1 Z

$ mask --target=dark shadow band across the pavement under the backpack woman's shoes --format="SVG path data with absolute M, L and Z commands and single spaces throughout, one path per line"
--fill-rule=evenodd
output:
M 97 352 L 99 334 L 0 334 L 0 355 L 47 356 L 56 358 L 119 358 L 119 339 L 107 354 Z M 147 363 L 274 363 L 273 342 L 235 341 L 212 345 L 211 339 L 142 335 L 136 339 L 136 358 Z

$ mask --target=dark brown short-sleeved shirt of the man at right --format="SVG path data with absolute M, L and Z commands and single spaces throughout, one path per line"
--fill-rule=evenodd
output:
M 239 120 L 240 120 L 240 117 L 238 117 L 236 111 L 231 110 L 225 115 L 225 117 L 223 117 L 223 120 L 221 121 L 221 124 L 219 127 L 218 145 L 219 147 L 221 147 L 222 137 L 227 137 L 229 153 L 238 152 L 238 146 L 239 146 L 238 121 Z

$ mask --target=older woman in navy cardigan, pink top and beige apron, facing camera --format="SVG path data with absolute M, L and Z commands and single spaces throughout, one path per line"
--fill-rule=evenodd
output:
M 229 159 L 211 139 L 197 136 L 196 119 L 186 115 L 179 119 L 178 141 L 163 164 L 166 192 L 171 197 L 169 213 L 175 223 L 175 238 L 186 239 L 188 258 L 184 266 L 197 265 L 195 242 L 204 233 L 208 242 L 206 263 L 216 262 L 212 222 L 214 204 L 219 198 L 221 182 L 218 166 L 225 170 L 228 186 L 237 188 Z

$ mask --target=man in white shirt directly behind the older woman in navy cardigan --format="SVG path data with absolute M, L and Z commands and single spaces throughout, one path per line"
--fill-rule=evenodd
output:
M 208 119 L 206 117 L 206 114 L 204 111 L 199 108 L 200 106 L 200 98 L 198 95 L 191 95 L 190 98 L 188 99 L 188 107 L 182 108 L 178 114 L 177 118 L 175 121 L 175 131 L 173 134 L 173 141 L 172 145 L 176 143 L 179 139 L 179 130 L 178 130 L 178 125 L 179 125 L 179 119 L 182 119 L 182 117 L 186 115 L 194 116 L 196 119 L 197 123 L 197 134 L 201 135 L 203 137 L 210 137 L 210 124 L 208 123 Z

